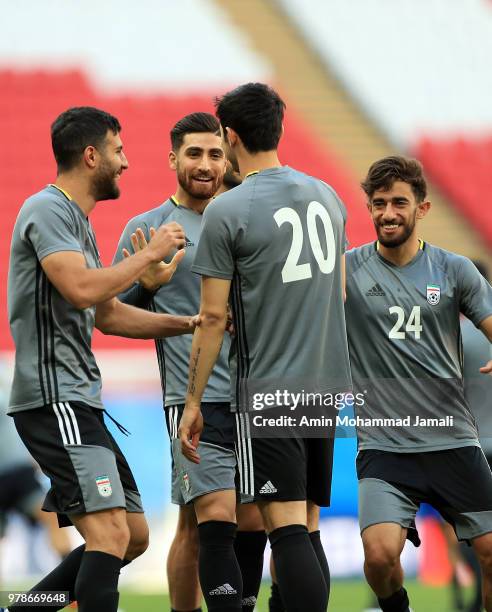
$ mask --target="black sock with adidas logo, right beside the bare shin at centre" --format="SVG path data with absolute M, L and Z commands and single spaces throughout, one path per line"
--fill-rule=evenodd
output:
M 208 610 L 241 612 L 243 583 L 234 553 L 235 523 L 207 521 L 198 525 L 198 573 Z

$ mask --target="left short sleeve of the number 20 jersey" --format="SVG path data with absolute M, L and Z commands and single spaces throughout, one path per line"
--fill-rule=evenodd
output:
M 232 279 L 237 238 L 237 217 L 228 214 L 223 202 L 210 203 L 203 213 L 203 225 L 192 271 L 202 276 Z

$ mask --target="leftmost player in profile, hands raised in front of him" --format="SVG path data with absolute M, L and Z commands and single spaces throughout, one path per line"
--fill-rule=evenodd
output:
M 93 328 L 156 338 L 191 333 L 195 324 L 190 316 L 145 312 L 115 297 L 184 246 L 178 224 L 157 229 L 126 261 L 102 267 L 88 215 L 98 201 L 120 194 L 128 168 L 120 129 L 115 117 L 92 107 L 69 109 L 55 120 L 56 182 L 24 202 L 10 255 L 16 357 L 9 413 L 51 480 L 44 508 L 57 512 L 61 525 L 73 523 L 85 540 L 33 590 L 69 591 L 81 612 L 117 609 L 122 563 L 144 552 L 148 540 L 137 485 L 103 422 Z

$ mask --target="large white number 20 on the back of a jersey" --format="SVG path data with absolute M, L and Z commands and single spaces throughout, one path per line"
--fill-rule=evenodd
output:
M 301 217 L 293 208 L 285 207 L 277 210 L 277 212 L 273 215 L 273 218 L 279 227 L 284 223 L 290 223 L 292 225 L 292 244 L 290 245 L 289 254 L 285 260 L 284 267 L 282 268 L 282 281 L 284 283 L 292 283 L 293 281 L 311 278 L 311 264 L 298 263 L 302 251 L 302 244 L 304 242 L 304 231 L 302 229 Z M 323 249 L 321 248 L 318 226 L 316 224 L 317 219 L 321 219 L 325 231 L 327 249 L 326 257 L 323 253 Z M 306 221 L 309 242 L 311 244 L 314 258 L 316 259 L 321 272 L 323 272 L 323 274 L 330 274 L 335 267 L 336 257 L 335 234 L 333 233 L 333 225 L 331 223 L 330 215 L 322 204 L 313 201 L 310 202 L 307 207 Z

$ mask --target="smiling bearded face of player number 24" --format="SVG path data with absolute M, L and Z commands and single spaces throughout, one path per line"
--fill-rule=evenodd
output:
M 416 231 L 416 220 L 423 216 L 426 204 L 418 203 L 412 187 L 403 181 L 394 181 L 387 191 L 375 191 L 368 208 L 379 242 L 387 248 L 404 244 Z

